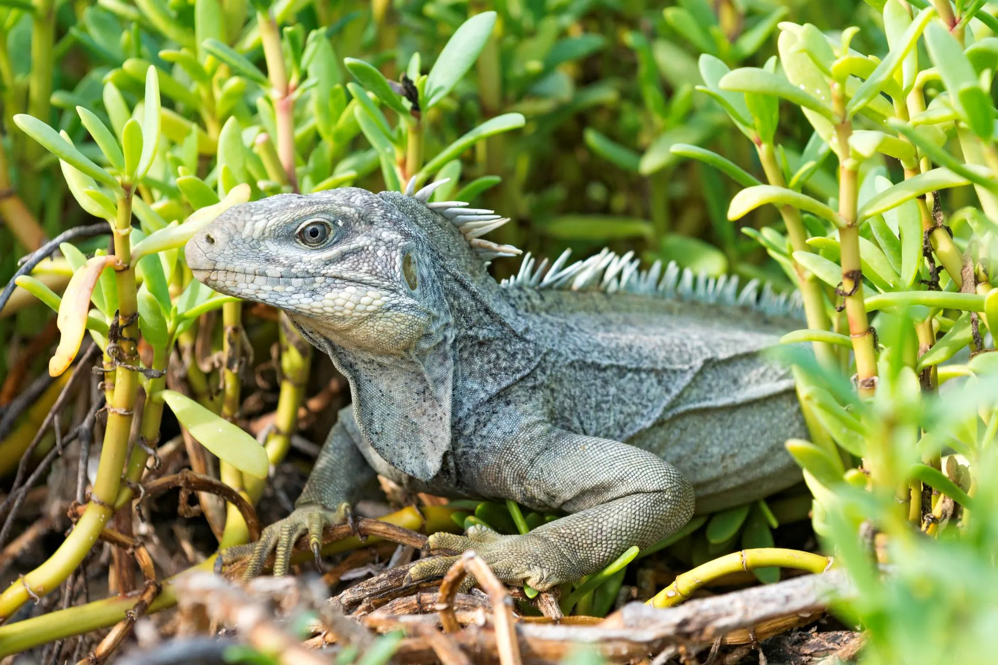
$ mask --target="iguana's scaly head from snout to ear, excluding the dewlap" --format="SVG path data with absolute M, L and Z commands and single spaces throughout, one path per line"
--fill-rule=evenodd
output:
M 439 216 L 426 196 L 406 198 Z M 403 353 L 445 306 L 432 283 L 439 254 L 413 216 L 356 187 L 279 194 L 219 216 L 188 243 L 188 265 L 213 289 L 286 310 L 337 345 Z

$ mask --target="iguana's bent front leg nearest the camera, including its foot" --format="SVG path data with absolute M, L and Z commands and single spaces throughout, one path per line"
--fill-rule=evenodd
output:
M 490 432 L 507 428 L 518 434 L 489 441 Z M 571 513 L 522 535 L 476 529 L 430 537 L 431 549 L 474 549 L 505 582 L 545 590 L 576 580 L 632 545 L 657 542 L 693 515 L 693 486 L 646 451 L 516 417 L 482 432 L 484 440 L 456 456 L 462 484 L 487 497 Z M 441 575 L 455 558 L 427 559 L 410 576 Z

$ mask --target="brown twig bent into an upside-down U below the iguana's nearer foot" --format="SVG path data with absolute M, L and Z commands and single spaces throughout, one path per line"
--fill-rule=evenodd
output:
M 489 565 L 473 551 L 464 552 L 440 582 L 439 611 L 444 632 L 455 633 L 460 630 L 457 617 L 454 616 L 453 601 L 458 587 L 469 573 L 475 577 L 478 585 L 492 601 L 499 662 L 501 665 L 522 665 L 520 645 L 513 623 L 513 599 Z

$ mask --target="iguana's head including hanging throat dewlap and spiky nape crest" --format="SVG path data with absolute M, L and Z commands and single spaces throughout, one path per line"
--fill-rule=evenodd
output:
M 354 418 L 393 467 L 429 480 L 450 445 L 454 284 L 497 287 L 478 237 L 506 221 L 418 192 L 345 187 L 236 205 L 187 244 L 195 277 L 285 310 L 350 382 Z

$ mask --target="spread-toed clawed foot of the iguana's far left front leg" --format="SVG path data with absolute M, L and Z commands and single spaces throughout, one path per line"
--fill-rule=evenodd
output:
M 243 578 L 252 579 L 263 571 L 270 552 L 274 552 L 273 574 L 274 576 L 285 575 L 290 567 L 291 551 L 299 537 L 305 533 L 308 534 L 308 546 L 315 555 L 315 559 L 318 560 L 319 548 L 322 546 L 323 529 L 326 526 L 341 524 L 349 517 L 349 503 L 340 503 L 334 510 L 317 503 L 302 505 L 280 521 L 264 528 L 259 540 L 223 550 L 223 564 L 229 564 L 249 556 L 250 562 L 243 573 Z

